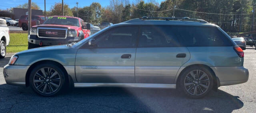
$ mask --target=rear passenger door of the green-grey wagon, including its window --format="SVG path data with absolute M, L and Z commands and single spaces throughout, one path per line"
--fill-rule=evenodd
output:
M 135 59 L 136 83 L 172 84 L 190 53 L 171 26 L 141 26 Z

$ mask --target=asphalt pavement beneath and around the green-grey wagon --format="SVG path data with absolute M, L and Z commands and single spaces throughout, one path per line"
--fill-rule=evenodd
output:
M 221 86 L 202 99 L 189 99 L 174 89 L 155 88 L 75 88 L 55 97 L 42 97 L 29 87 L 6 84 L 0 59 L 0 112 L 213 112 L 256 113 L 256 50 L 244 51 L 244 67 L 249 80 L 244 84 Z

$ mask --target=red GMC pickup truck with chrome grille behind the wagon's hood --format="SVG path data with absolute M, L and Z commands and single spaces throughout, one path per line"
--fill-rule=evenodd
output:
M 50 16 L 41 25 L 32 26 L 28 35 L 28 49 L 64 45 L 90 36 L 90 24 L 81 18 Z

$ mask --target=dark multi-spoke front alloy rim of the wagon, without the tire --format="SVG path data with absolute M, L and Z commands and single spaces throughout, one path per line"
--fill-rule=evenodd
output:
M 60 88 L 60 74 L 50 67 L 41 68 L 33 78 L 34 87 L 43 94 L 52 94 Z

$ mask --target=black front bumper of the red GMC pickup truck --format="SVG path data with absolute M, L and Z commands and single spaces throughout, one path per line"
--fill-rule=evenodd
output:
M 81 37 L 66 37 L 66 39 L 54 39 L 39 38 L 37 35 L 28 35 L 28 42 L 41 46 L 64 45 L 72 42 L 78 42 L 80 40 L 82 40 Z

